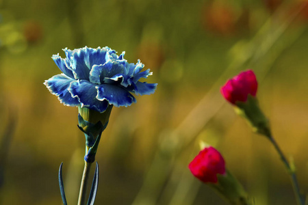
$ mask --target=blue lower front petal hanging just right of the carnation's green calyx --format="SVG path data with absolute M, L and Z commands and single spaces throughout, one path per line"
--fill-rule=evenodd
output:
M 97 99 L 108 100 L 111 105 L 116 107 L 129 106 L 136 102 L 136 98 L 127 90 L 116 85 L 102 84 L 97 86 Z

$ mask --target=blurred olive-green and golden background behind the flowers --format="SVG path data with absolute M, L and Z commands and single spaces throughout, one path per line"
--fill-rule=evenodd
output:
M 308 191 L 308 1 L 0 1 L 0 204 L 77 203 L 84 136 L 77 108 L 42 84 L 59 74 L 51 55 L 110 46 L 140 59 L 158 83 L 114 108 L 97 161 L 96 204 L 226 204 L 190 174 L 199 142 L 215 146 L 256 204 L 295 204 L 269 141 L 220 95 L 251 68 L 274 137 Z

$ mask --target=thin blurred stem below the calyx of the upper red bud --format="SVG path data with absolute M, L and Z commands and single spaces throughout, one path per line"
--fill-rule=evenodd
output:
M 298 205 L 305 205 L 304 199 L 300 195 L 300 189 L 299 189 L 299 186 L 298 186 L 298 181 L 296 179 L 296 174 L 295 174 L 294 169 L 292 169 L 292 167 L 290 166 L 290 163 L 287 161 L 287 159 L 283 155 L 283 152 L 279 148 L 277 142 L 274 140 L 274 137 L 268 136 L 268 139 L 270 139 L 270 141 L 274 145 L 274 148 L 277 150 L 277 152 L 278 152 L 278 154 L 279 154 L 279 156 L 281 158 L 281 161 L 283 161 L 283 164 L 285 165 L 285 167 L 287 168 L 288 173 L 291 176 L 292 185 L 293 185 L 294 193 L 295 193 L 295 196 L 296 196 L 297 204 Z

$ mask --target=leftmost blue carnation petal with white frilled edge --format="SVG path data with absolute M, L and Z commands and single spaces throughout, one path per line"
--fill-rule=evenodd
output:
M 73 98 L 70 92 L 68 92 L 68 87 L 70 87 L 70 83 L 73 82 L 76 82 L 76 80 L 71 79 L 65 74 L 57 74 L 45 81 L 44 85 L 46 85 L 48 90 L 57 96 L 64 105 L 78 106 L 80 105 L 78 98 Z

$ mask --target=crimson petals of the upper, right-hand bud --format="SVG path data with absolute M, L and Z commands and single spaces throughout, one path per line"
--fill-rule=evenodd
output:
M 222 96 L 232 104 L 236 101 L 246 102 L 248 94 L 254 96 L 257 94 L 257 79 L 253 70 L 240 72 L 233 79 L 229 79 L 220 92 Z

